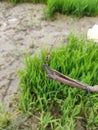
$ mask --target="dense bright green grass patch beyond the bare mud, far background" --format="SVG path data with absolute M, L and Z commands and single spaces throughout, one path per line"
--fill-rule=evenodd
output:
M 98 0 L 48 0 L 47 3 L 49 17 L 56 12 L 79 17 L 98 15 Z

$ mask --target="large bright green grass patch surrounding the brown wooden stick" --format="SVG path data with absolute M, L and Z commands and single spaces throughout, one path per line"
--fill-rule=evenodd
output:
M 47 50 L 47 49 L 46 49 Z M 24 112 L 37 113 L 39 130 L 75 130 L 79 120 L 87 130 L 98 128 L 98 93 L 88 93 L 46 77 L 42 65 L 47 51 L 31 57 L 25 55 L 24 69 L 19 72 L 21 105 Z M 67 45 L 51 51 L 48 65 L 89 85 L 98 84 L 98 44 L 70 35 Z

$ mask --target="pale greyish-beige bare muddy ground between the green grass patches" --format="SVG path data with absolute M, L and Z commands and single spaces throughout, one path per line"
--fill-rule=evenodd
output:
M 98 17 L 72 18 L 57 14 L 56 20 L 44 19 L 45 5 L 0 2 L 0 103 L 13 111 L 13 97 L 18 93 L 17 71 L 22 67 L 23 51 L 34 54 L 45 46 L 66 42 L 71 31 L 84 34 Z

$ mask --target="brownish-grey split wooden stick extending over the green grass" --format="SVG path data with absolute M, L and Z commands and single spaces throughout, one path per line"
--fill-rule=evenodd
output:
M 68 76 L 63 75 L 62 73 L 60 73 L 56 70 L 49 68 L 45 64 L 43 65 L 43 69 L 48 73 L 47 77 L 50 79 L 53 79 L 53 80 L 59 81 L 63 84 L 70 85 L 72 87 L 76 87 L 76 88 L 83 89 L 86 91 L 98 92 L 98 85 L 89 86 L 89 85 L 83 84 L 80 81 L 72 79 Z

